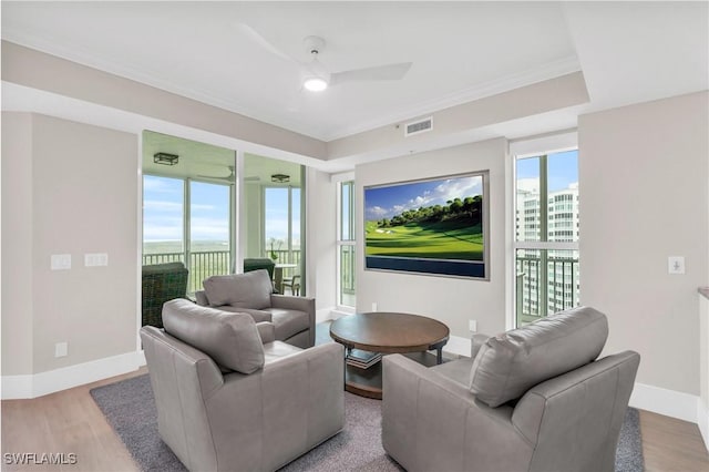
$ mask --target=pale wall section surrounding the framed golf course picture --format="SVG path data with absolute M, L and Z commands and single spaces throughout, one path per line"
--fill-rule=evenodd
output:
M 469 319 L 482 332 L 505 329 L 505 160 L 506 140 L 491 140 L 357 166 L 357 308 L 403 311 L 443 321 L 451 335 L 470 337 Z M 363 269 L 363 187 L 490 171 L 490 280 Z

